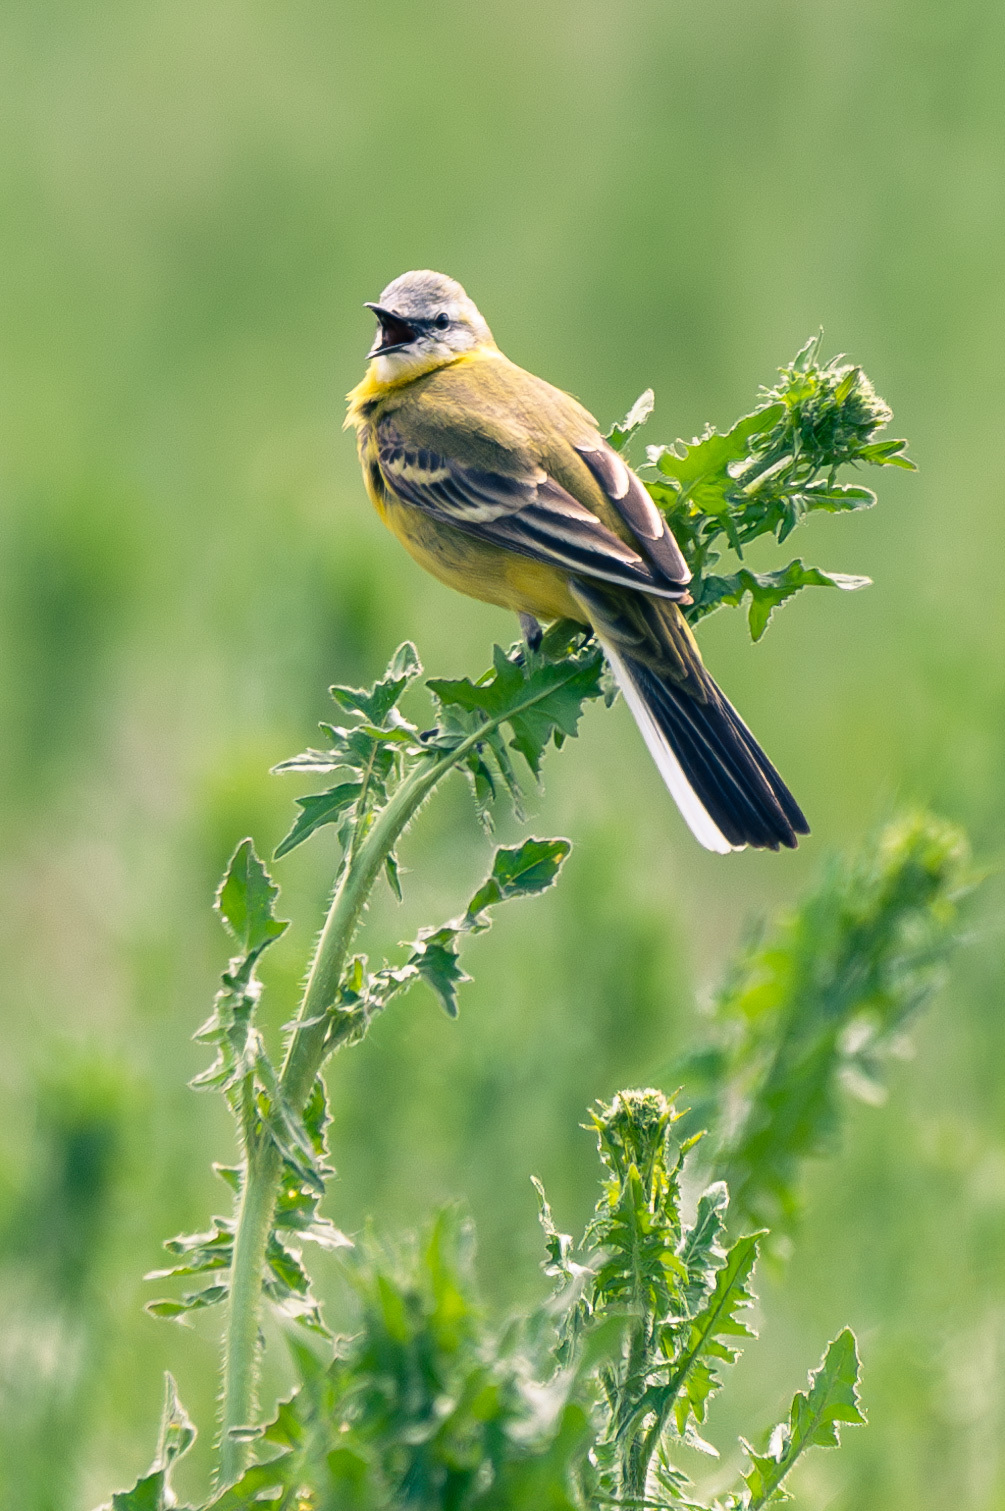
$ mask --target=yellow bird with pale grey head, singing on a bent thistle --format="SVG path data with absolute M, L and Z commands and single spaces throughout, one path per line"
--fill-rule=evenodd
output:
M 795 849 L 809 823 L 704 668 L 691 571 L 595 419 L 509 361 L 459 283 L 429 269 L 367 302 L 378 331 L 346 428 L 384 524 L 434 577 L 520 616 L 592 632 L 706 849 Z

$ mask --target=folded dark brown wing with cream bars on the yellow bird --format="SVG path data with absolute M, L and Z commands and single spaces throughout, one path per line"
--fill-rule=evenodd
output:
M 682 582 L 680 573 L 663 567 L 651 541 L 633 550 L 543 467 L 514 453 L 506 455 L 512 471 L 467 464 L 429 446 L 410 446 L 385 423 L 378 434 L 378 462 L 391 494 L 446 524 L 583 577 L 665 598 L 686 597 L 686 577 Z M 676 565 L 676 558 L 668 565 Z

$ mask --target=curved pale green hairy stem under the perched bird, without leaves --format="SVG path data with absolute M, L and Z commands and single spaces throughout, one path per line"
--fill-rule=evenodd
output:
M 576 668 L 570 669 L 570 677 Z M 283 1064 L 281 1086 L 293 1108 L 302 1108 L 328 1055 L 339 1049 L 332 1037 L 331 1006 L 346 967 L 349 949 L 367 899 L 384 861 L 414 819 L 437 783 L 452 771 L 468 751 L 481 745 L 500 724 L 550 695 L 553 688 L 508 709 L 499 718 L 487 719 L 455 749 L 428 765 L 420 765 L 400 784 L 387 807 L 376 816 L 373 828 L 358 848 L 351 848 L 349 863 L 342 875 L 325 919 L 307 987 L 290 1035 Z M 346 1020 L 346 1032 L 349 1020 Z M 269 1138 L 248 1135 L 245 1182 L 237 1212 L 234 1259 L 224 1340 L 224 1399 L 221 1422 L 219 1482 L 231 1484 L 243 1470 L 248 1445 L 234 1438 L 236 1428 L 249 1426 L 255 1413 L 258 1380 L 258 1328 L 261 1315 L 261 1283 L 272 1212 L 283 1160 Z

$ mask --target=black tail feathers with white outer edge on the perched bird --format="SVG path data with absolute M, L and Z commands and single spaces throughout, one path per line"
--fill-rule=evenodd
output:
M 790 849 L 806 817 L 731 704 L 701 668 L 704 701 L 651 663 L 605 654 L 669 793 L 706 849 Z

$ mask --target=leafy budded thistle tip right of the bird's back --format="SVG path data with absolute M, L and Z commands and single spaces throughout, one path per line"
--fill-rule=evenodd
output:
M 694 441 L 647 447 L 657 477 L 645 487 L 660 506 L 694 573 L 692 603 L 685 609 L 697 624 L 724 604 L 750 594 L 750 633 L 759 641 L 772 610 L 801 588 L 864 588 L 867 577 L 821 571 L 792 561 L 778 571 L 715 573 L 719 539 L 742 559 L 744 547 L 762 535 L 778 544 L 809 514 L 843 514 L 877 502 L 870 488 L 837 482 L 846 465 L 907 467 L 905 441 L 880 441 L 892 413 L 860 367 L 834 357 L 821 363 L 821 335 L 780 369 L 781 381 L 762 390 L 763 403 L 725 434 L 709 426 Z M 611 432 L 626 444 L 648 417 L 645 394 Z

